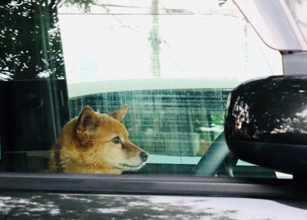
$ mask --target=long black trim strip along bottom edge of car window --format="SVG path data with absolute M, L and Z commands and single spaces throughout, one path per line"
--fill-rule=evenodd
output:
M 148 176 L 130 174 L 0 173 L 1 190 L 78 194 L 307 199 L 305 182 L 294 179 Z

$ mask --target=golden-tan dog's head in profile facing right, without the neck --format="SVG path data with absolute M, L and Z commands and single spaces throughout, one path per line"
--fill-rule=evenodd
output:
M 109 168 L 108 173 L 136 171 L 145 165 L 148 153 L 128 139 L 128 133 L 120 123 L 128 106 L 123 105 L 110 114 L 94 112 L 85 107 L 76 124 L 76 136 L 86 151 L 87 164 Z

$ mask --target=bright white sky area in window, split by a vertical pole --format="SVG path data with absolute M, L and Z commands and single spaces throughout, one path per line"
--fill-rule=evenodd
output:
M 68 81 L 80 80 L 80 57 L 97 63 L 99 78 L 151 76 L 151 15 L 116 15 L 115 19 L 62 14 L 59 18 Z M 250 29 L 245 37 L 245 25 L 239 18 L 223 15 L 161 15 L 161 76 L 250 79 L 272 71 L 281 74 L 280 54 L 264 46 Z

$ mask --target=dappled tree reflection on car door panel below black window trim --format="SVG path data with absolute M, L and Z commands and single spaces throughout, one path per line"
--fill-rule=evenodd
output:
M 0 197 L 5 205 L 0 218 L 5 219 L 228 219 L 237 210 L 218 211 L 208 207 L 206 199 L 189 199 L 202 204 L 202 209 L 186 205 L 174 197 L 172 202 L 151 201 L 150 196 L 99 196 L 69 194 L 37 194 L 18 192 Z

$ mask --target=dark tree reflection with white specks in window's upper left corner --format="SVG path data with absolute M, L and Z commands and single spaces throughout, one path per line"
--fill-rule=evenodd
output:
M 52 1 L 0 3 L 0 80 L 64 76 L 57 11 Z

